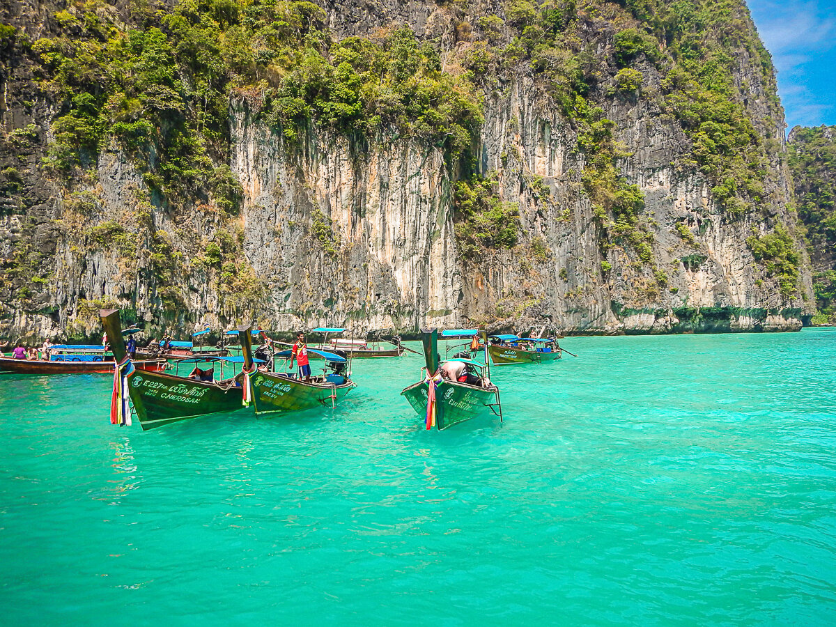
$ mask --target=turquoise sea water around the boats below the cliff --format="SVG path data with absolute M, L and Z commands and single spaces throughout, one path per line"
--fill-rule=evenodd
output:
M 3 375 L 3 623 L 833 624 L 836 330 L 562 344 L 441 432 L 410 354 L 145 432 L 107 375 Z

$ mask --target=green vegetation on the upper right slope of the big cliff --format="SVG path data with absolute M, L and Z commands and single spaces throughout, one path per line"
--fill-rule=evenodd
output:
M 711 181 L 730 216 L 751 211 L 764 196 L 764 143 L 782 115 L 772 61 L 739 0 L 630 0 L 610 3 L 507 0 L 507 23 L 492 16 L 479 26 L 487 45 L 466 64 L 477 76 L 526 60 L 564 115 L 589 135 L 596 122 L 590 99 L 616 95 L 653 101 L 691 140 L 690 163 Z M 510 41 L 502 38 L 508 28 Z M 609 51 L 609 56 L 594 50 Z M 750 85 L 740 84 L 740 59 L 767 93 L 769 115 L 756 128 L 747 113 Z M 644 84 L 645 75 L 662 77 Z M 579 142 L 599 160 L 601 142 Z M 600 169 L 599 165 L 593 165 Z M 607 184 L 609 193 L 619 186 Z

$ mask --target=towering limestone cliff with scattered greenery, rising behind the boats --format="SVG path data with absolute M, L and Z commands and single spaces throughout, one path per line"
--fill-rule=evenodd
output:
M 295 100 L 275 105 L 289 66 L 255 44 L 246 63 L 219 54 L 229 81 L 222 92 L 201 91 L 203 74 L 186 68 L 191 61 L 176 52 L 185 48 L 172 44 L 169 78 L 137 88 L 145 114 L 135 113 L 127 89 L 124 102 L 103 87 L 85 104 L 71 80 L 58 82 L 64 66 L 55 59 L 67 38 L 113 41 L 159 24 L 155 32 L 174 40 L 181 23 L 133 4 L 7 5 L 0 336 L 96 334 L 104 304 L 149 330 L 181 333 L 251 316 L 277 331 L 524 331 L 543 322 L 566 333 L 788 330 L 812 313 L 808 262 L 788 210 L 782 110 L 745 6 L 731 3 L 728 33 L 711 35 L 732 68 L 723 93 L 740 116 L 728 124 L 747 142 L 726 147 L 716 131 L 723 120 L 705 118 L 710 94 L 683 78 L 680 53 L 670 52 L 674 35 L 654 34 L 618 4 L 555 4 L 559 19 L 548 22 L 552 5 L 527 2 L 335 0 L 320 5 L 315 31 L 315 8 L 284 4 L 308 20 L 294 27 L 305 41 L 317 33 L 367 38 L 377 46 L 370 49 L 391 54 L 390 33 L 408 24 L 438 52 L 432 75 L 454 77 L 448 91 L 472 85 L 481 114 L 442 125 L 428 104 L 405 132 L 405 122 L 377 113 L 383 96 L 377 110 L 349 115 L 353 101 L 332 89 L 324 104 L 300 95 L 298 107 L 314 113 L 290 120 Z M 246 24 L 244 9 L 191 5 L 177 15 L 194 23 L 201 12 L 214 16 L 227 38 L 231 24 Z M 434 63 L 431 48 L 414 48 Z M 73 49 L 82 59 L 82 48 Z M 168 49 L 156 51 L 155 63 Z M 345 50 L 331 48 L 338 78 L 348 71 L 338 54 L 359 67 Z M 142 57 L 130 72 L 148 74 L 149 63 Z M 206 113 L 212 106 L 215 118 Z M 108 128 L 97 126 L 101 111 Z M 372 113 L 382 121 L 360 121 Z M 92 130 L 79 130 L 87 120 Z M 181 153 L 201 166 L 178 166 L 171 178 L 176 133 L 195 138 Z M 84 143 L 90 134 L 95 140 L 70 145 L 71 155 L 59 150 L 62 138 Z M 734 161 L 737 153 L 745 162 Z M 512 240 L 468 247 L 488 242 L 484 232 L 497 226 L 466 212 L 463 182 L 502 203 Z M 758 252 L 763 237 L 788 247 L 786 272 Z

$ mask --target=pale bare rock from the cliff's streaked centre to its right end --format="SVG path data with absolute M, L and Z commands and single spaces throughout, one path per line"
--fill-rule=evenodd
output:
M 439 150 L 380 137 L 353 143 L 317 130 L 288 146 L 254 120 L 246 101 L 233 104 L 244 245 L 269 286 L 273 327 L 415 331 L 497 318 L 517 327 L 550 320 L 587 333 L 800 327 L 800 301 L 782 302 L 774 288 L 758 286 L 745 239 L 763 228 L 760 218 L 728 222 L 706 181 L 671 165 L 684 138 L 673 125 L 645 124 L 652 112 L 616 107 L 608 115 L 633 153 L 624 176 L 645 194 L 655 266 L 667 283 L 630 249 L 602 250 L 581 191 L 577 137 L 532 93 L 523 79 L 486 102 L 479 170 L 497 172 L 497 193 L 518 204 L 522 229 L 515 249 L 481 263 L 456 254 L 451 181 Z M 536 177 L 548 188 L 545 199 L 534 190 Z M 698 245 L 683 240 L 677 222 Z M 535 238 L 548 258 L 533 256 Z

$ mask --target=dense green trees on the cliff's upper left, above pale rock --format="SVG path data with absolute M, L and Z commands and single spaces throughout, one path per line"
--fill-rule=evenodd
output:
M 32 49 L 61 111 L 48 164 L 69 173 L 117 140 L 169 201 L 206 192 L 235 212 L 227 161 L 229 100 L 258 94 L 291 143 L 318 120 L 345 133 L 382 127 L 456 158 L 482 123 L 472 85 L 441 72 L 408 27 L 334 43 L 324 11 L 283 0 L 181 0 L 171 14 L 117 28 L 88 2 L 57 13 L 61 35 Z

